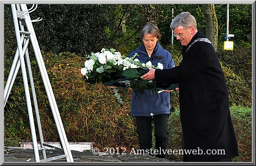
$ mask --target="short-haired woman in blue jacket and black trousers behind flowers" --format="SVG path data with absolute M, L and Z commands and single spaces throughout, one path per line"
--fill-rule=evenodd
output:
M 163 49 L 158 43 L 161 35 L 156 25 L 146 23 L 140 33 L 143 43 L 139 48 L 129 54 L 133 57 L 138 53 L 136 59 L 142 63 L 151 61 L 152 65 L 163 65 L 164 69 L 175 67 L 173 58 L 167 50 Z M 132 94 L 131 114 L 135 116 L 137 132 L 139 135 L 140 149 L 144 154 L 150 152 L 159 158 L 165 158 L 164 152 L 167 148 L 167 120 L 170 112 L 170 91 L 155 93 L 150 90 L 144 90 L 143 94 Z M 152 154 L 152 121 L 155 126 L 155 149 L 158 153 Z M 157 151 L 155 151 L 157 152 Z

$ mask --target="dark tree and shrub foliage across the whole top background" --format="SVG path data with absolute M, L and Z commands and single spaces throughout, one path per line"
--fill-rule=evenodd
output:
M 29 7 L 28 7 L 29 8 Z M 16 49 L 16 38 L 10 5 L 5 5 L 5 50 Z M 174 14 L 172 10 L 174 9 Z M 215 5 L 218 18 L 218 41 L 225 41 L 227 5 Z M 42 18 L 33 26 L 41 50 L 70 51 L 86 54 L 103 47 L 120 49 L 128 53 L 141 42 L 139 32 L 151 21 L 158 25 L 163 46 L 170 45 L 170 22 L 183 11 L 195 16 L 198 29 L 206 36 L 206 22 L 202 4 L 40 4 L 30 14 L 32 19 Z M 229 5 L 229 32 L 235 43 L 248 42 L 252 31 L 252 5 Z M 178 41 L 174 41 L 179 45 Z

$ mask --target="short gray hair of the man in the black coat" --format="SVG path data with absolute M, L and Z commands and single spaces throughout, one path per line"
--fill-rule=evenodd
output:
M 194 28 L 197 30 L 197 21 L 193 15 L 191 15 L 189 12 L 182 12 L 178 14 L 170 23 L 170 29 L 174 30 L 177 26 L 194 26 Z

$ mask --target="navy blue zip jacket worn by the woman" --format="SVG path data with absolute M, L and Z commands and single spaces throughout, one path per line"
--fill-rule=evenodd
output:
M 139 46 L 139 48 L 133 50 L 128 57 L 133 57 L 135 53 L 138 53 L 136 58 L 142 63 L 151 61 L 152 65 L 157 66 L 157 64 L 160 62 L 163 64 L 164 69 L 175 67 L 174 60 L 170 52 L 163 49 L 158 42 L 151 55 L 151 58 L 148 56 L 143 43 Z M 138 96 L 133 92 L 131 102 L 132 115 L 154 116 L 169 113 L 170 94 L 168 92 L 161 92 L 157 94 L 153 91 L 145 90 L 143 94 L 139 94 Z

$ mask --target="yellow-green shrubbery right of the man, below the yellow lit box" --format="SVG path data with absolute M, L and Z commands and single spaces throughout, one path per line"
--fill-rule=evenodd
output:
M 229 92 L 230 105 L 251 107 L 252 102 L 252 49 L 251 45 L 234 45 L 233 51 L 223 50 L 219 44 L 221 61 Z

